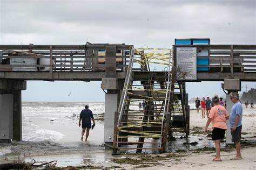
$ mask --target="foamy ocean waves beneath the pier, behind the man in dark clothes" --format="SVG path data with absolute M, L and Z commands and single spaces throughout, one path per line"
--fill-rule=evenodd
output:
M 104 103 L 87 103 L 93 115 L 104 113 Z M 22 133 L 24 141 L 62 141 L 64 129 L 75 126 L 85 103 L 23 102 Z M 67 127 L 68 126 L 68 127 Z

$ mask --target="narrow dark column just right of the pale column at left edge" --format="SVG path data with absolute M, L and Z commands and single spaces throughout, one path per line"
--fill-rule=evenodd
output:
M 13 132 L 12 140 L 22 140 L 22 97 L 21 90 L 13 90 Z

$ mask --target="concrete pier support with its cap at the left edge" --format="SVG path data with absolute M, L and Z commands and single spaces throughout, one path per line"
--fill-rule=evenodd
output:
M 26 81 L 0 80 L 0 142 L 22 140 L 22 97 Z

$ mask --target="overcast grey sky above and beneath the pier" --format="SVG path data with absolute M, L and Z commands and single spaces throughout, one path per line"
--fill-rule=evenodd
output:
M 0 0 L 0 44 L 89 41 L 171 48 L 175 38 L 210 38 L 211 44 L 255 44 L 255 4 L 254 0 Z M 221 83 L 187 83 L 189 98 L 223 95 Z M 246 84 L 248 89 L 255 88 L 255 82 L 242 83 L 242 87 Z M 28 81 L 27 85 L 23 101 L 104 102 L 105 98 L 100 82 Z

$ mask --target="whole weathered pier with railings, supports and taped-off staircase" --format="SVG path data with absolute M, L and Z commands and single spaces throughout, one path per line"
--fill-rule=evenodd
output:
M 90 42 L 0 45 L 0 141 L 22 140 L 26 81 L 101 81 L 104 142 L 113 154 L 166 152 L 170 137 L 189 135 L 186 82 L 224 81 L 220 88 L 230 93 L 241 90 L 241 81 L 256 81 L 256 45 L 194 42 L 177 41 L 172 49 Z M 231 106 L 227 97 L 227 110 Z

